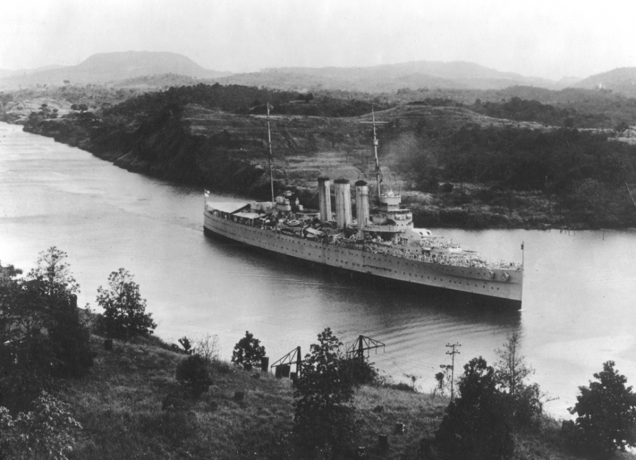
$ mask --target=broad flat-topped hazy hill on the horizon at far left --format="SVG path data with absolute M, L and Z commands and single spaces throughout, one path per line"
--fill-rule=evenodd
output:
M 96 84 L 172 73 L 190 78 L 218 78 L 230 72 L 208 70 L 182 54 L 154 51 L 99 53 L 74 66 L 21 72 L 0 79 L 0 87 L 35 84 Z M 1 75 L 1 74 L 0 74 Z

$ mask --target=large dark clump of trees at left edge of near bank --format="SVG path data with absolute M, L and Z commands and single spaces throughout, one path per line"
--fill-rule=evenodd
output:
M 52 377 L 79 377 L 93 363 L 89 331 L 80 319 L 79 286 L 56 247 L 40 253 L 26 277 L 3 267 L 0 283 L 0 405 L 25 411 Z

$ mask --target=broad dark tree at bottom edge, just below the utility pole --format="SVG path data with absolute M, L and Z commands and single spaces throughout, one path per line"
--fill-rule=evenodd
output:
M 459 398 L 446 408 L 435 441 L 443 459 L 498 460 L 514 453 L 512 416 L 496 388 L 494 369 L 481 358 L 464 366 Z

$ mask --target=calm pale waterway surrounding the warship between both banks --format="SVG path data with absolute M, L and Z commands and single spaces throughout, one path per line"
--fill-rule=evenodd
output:
M 111 271 L 127 268 L 148 300 L 156 334 L 175 342 L 217 334 L 230 358 L 245 330 L 270 363 L 309 344 L 325 327 L 344 342 L 359 334 L 386 343 L 371 360 L 395 380 L 419 376 L 432 389 L 448 343 L 461 343 L 456 369 L 489 362 L 507 334 L 522 337 L 546 409 L 569 417 L 578 386 L 602 363 L 636 380 L 635 231 L 440 230 L 494 259 L 520 262 L 523 310 L 466 306 L 444 292 L 386 290 L 333 277 L 234 244 L 206 238 L 200 189 L 132 174 L 91 154 L 0 124 L 0 261 L 32 268 L 58 246 L 82 292 L 95 304 Z M 232 200 L 232 197 L 222 197 Z

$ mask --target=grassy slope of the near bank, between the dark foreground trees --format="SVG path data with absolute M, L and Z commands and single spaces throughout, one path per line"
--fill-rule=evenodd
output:
M 112 352 L 93 338 L 95 365 L 89 376 L 69 382 L 63 398 L 83 425 L 76 459 L 298 459 L 287 439 L 293 424 L 293 388 L 287 379 L 215 365 L 214 384 L 199 400 L 180 400 L 162 410 L 178 388 L 175 369 L 183 355 L 144 343 L 115 342 Z M 242 401 L 235 391 L 245 391 Z M 431 438 L 448 404 L 430 395 L 361 387 L 355 395 L 356 445 L 369 459 L 415 459 L 423 437 Z M 383 406 L 383 411 L 375 411 Z M 395 424 L 406 425 L 404 434 Z M 516 459 L 575 459 L 558 439 L 558 424 L 518 435 Z M 390 448 L 377 447 L 389 435 Z M 406 457 L 404 457 L 406 455 Z M 624 458 L 633 458 L 625 456 Z

